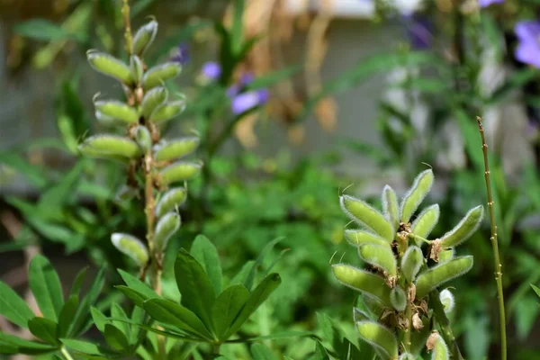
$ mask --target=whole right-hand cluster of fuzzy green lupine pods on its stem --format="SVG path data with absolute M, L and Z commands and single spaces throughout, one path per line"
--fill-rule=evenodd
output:
M 455 257 L 482 222 L 483 208 L 468 211 L 455 229 L 428 239 L 440 216 L 437 204 L 415 213 L 434 182 L 431 170 L 420 173 L 401 203 L 392 190 L 383 189 L 383 212 L 366 202 L 343 195 L 339 201 L 361 229 L 347 229 L 347 242 L 369 267 L 333 265 L 341 284 L 361 293 L 365 308 L 354 311 L 360 338 L 382 359 L 417 358 L 427 351 L 433 359 L 463 358 L 446 313 L 454 308 L 454 295 L 438 288 L 464 275 L 473 257 Z

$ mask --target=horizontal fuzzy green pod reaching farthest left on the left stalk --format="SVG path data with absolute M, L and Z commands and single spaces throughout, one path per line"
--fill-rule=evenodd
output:
M 79 151 L 89 157 L 130 159 L 141 155 L 139 145 L 132 139 L 115 135 L 94 135 L 79 145 Z

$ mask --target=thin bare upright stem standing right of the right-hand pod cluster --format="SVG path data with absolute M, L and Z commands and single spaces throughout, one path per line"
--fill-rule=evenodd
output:
M 478 129 L 482 137 L 482 152 L 484 157 L 484 177 L 488 191 L 488 207 L 490 209 L 491 247 L 493 247 L 493 260 L 495 262 L 495 282 L 497 283 L 497 298 L 499 299 L 499 322 L 500 322 L 500 359 L 507 359 L 506 318 L 504 311 L 504 293 L 502 291 L 502 266 L 500 265 L 499 244 L 497 241 L 497 224 L 495 222 L 494 202 L 491 194 L 490 164 L 488 162 L 488 144 L 482 125 L 482 118 L 477 117 Z

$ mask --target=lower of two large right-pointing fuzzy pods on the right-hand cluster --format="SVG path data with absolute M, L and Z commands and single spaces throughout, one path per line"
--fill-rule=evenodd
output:
M 473 257 L 455 257 L 445 264 L 432 267 L 419 275 L 416 281 L 417 298 L 421 299 L 441 284 L 464 275 L 473 267 Z

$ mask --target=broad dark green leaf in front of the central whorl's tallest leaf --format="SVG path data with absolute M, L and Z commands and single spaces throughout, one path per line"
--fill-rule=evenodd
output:
M 214 288 L 201 264 L 185 249 L 176 256 L 175 278 L 182 294 L 182 304 L 193 311 L 208 329 L 212 329 L 211 309 L 216 300 Z

